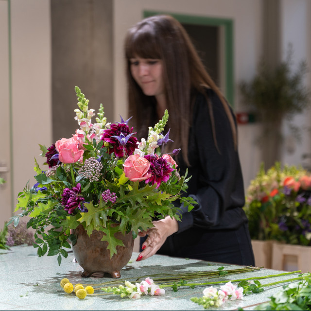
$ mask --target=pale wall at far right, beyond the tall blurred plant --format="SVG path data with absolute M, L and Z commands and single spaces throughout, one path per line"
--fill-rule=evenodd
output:
M 282 58 L 285 59 L 288 44 L 294 48 L 293 70 L 297 69 L 301 60 L 306 60 L 309 72 L 305 77 L 305 85 L 311 88 L 311 1 L 310 0 L 282 0 L 281 1 L 281 48 Z M 293 123 L 311 128 L 311 110 L 297 115 Z M 302 142 L 299 143 L 290 133 L 288 125 L 283 125 L 285 141 L 282 152 L 282 162 L 299 165 L 304 153 L 311 153 L 311 132 L 304 131 Z M 292 151 L 292 152 L 291 152 Z M 309 163 L 311 160 L 309 160 Z

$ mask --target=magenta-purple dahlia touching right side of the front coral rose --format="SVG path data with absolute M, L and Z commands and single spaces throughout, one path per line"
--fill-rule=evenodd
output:
M 162 181 L 167 182 L 170 179 L 174 169 L 172 169 L 170 163 L 163 157 L 145 155 L 145 158 L 150 162 L 148 173 L 151 173 L 151 177 L 146 179 L 145 182 L 146 184 L 152 182 L 158 188 Z

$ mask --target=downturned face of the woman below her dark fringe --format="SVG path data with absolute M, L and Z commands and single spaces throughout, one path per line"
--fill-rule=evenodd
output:
M 164 94 L 161 59 L 133 57 L 130 64 L 132 76 L 145 95 L 158 98 Z

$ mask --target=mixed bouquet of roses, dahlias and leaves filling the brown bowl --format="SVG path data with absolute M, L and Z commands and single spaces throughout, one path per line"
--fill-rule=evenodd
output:
M 27 227 L 35 229 L 34 247 L 38 255 L 58 255 L 58 263 L 68 256 L 68 239 L 75 243 L 72 229 L 83 225 L 90 236 L 93 230 L 104 232 L 110 258 L 123 242 L 114 234 L 153 227 L 154 218 L 165 216 L 180 220 L 179 200 L 189 210 L 192 198 L 186 197 L 187 174 L 180 176 L 172 154 L 163 154 L 164 145 L 170 141 L 169 133 L 163 135 L 168 121 L 168 111 L 155 127 L 149 127 L 148 138 L 140 142 L 128 121 L 108 123 L 100 104 L 95 116 L 88 108 L 88 100 L 79 87 L 75 87 L 78 107 L 75 109 L 80 128 L 71 138 L 57 140 L 49 148 L 40 145 L 46 157 L 47 170 L 41 170 L 35 160 L 37 183 L 26 187 L 18 195 L 12 217 L 17 225 L 19 218 L 30 216 Z

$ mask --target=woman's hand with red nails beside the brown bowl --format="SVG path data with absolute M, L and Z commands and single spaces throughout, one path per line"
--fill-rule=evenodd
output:
M 139 237 L 144 237 L 148 234 L 145 242 L 142 243 L 141 248 L 143 251 L 139 254 L 137 261 L 147 259 L 158 251 L 158 249 L 164 244 L 167 237 L 178 231 L 178 223 L 175 218 L 166 216 L 164 219 L 153 222 L 154 227 L 147 231 L 141 231 L 138 233 Z

